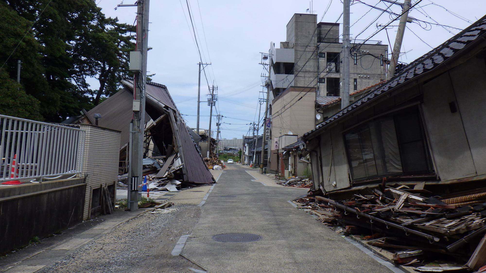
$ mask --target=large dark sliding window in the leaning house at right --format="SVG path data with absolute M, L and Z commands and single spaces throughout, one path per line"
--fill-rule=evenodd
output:
M 353 181 L 434 173 L 417 108 L 369 121 L 344 137 Z

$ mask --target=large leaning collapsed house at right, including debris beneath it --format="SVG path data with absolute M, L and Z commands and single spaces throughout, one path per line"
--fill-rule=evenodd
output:
M 314 196 L 299 202 L 412 250 L 403 262 L 485 266 L 485 73 L 486 16 L 304 134 Z

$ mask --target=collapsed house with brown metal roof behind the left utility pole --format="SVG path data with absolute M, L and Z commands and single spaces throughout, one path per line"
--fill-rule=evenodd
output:
M 123 88 L 89 111 L 65 123 L 90 123 L 121 131 L 120 174 L 127 172 L 132 120 L 133 79 L 122 80 Z M 101 116 L 101 117 L 100 117 Z M 96 118 L 98 117 L 98 118 Z M 175 106 L 167 87 L 147 82 L 145 107 L 144 158 L 156 158 L 171 170 L 171 177 L 191 185 L 212 184 L 214 179 L 203 161 L 191 130 Z M 166 166 L 167 165 L 167 166 Z M 164 175 L 164 174 L 162 174 Z

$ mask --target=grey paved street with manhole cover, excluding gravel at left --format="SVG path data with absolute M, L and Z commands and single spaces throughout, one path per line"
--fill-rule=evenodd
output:
M 267 187 L 252 181 L 249 169 L 226 166 L 182 251 L 209 272 L 390 272 L 286 202 L 306 190 Z M 253 233 L 262 239 L 245 243 L 212 239 L 223 233 Z

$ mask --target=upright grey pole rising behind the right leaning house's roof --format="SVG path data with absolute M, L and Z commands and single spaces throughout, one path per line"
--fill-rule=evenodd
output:
M 343 92 L 341 94 L 341 109 L 349 105 L 349 0 L 344 0 L 343 11 Z

